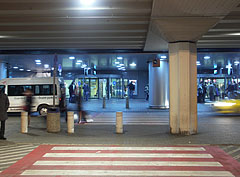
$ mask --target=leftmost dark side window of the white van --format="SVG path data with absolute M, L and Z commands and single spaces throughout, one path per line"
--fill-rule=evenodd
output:
M 9 85 L 8 96 L 24 96 L 26 90 L 33 90 L 32 85 Z

